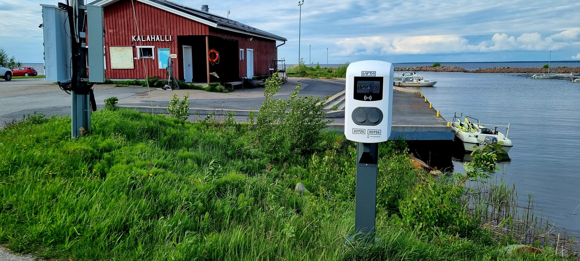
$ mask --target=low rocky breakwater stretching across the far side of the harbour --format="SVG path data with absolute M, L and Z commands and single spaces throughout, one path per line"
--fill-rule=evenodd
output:
M 423 67 L 396 67 L 395 71 L 422 71 L 422 72 L 478 72 L 478 73 L 548 73 L 546 68 L 503 67 L 468 70 L 457 66 L 423 66 Z M 580 73 L 580 67 L 550 68 L 550 73 Z

